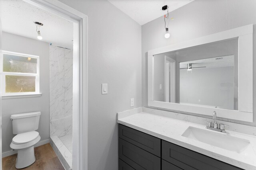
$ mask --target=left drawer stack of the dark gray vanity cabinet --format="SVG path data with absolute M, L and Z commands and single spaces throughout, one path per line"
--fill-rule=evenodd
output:
M 120 124 L 118 135 L 118 156 L 127 164 L 121 162 L 119 170 L 161 169 L 161 139 Z

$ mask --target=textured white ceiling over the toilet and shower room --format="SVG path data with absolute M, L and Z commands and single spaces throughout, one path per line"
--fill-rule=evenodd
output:
M 43 23 L 41 41 L 73 48 L 73 23 L 22 0 L 0 0 L 2 30 L 37 39 L 34 21 Z

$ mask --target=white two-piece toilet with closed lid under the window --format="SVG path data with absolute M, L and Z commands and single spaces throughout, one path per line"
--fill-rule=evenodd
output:
M 41 139 L 38 129 L 41 112 L 20 113 L 11 115 L 12 133 L 16 135 L 12 139 L 10 147 L 18 150 L 15 167 L 26 168 L 36 161 L 34 145 Z

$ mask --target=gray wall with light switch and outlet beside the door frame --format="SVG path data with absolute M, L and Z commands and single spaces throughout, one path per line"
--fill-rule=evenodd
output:
M 142 101 L 141 26 L 108 0 L 60 1 L 88 16 L 88 169 L 117 170 L 116 113 Z

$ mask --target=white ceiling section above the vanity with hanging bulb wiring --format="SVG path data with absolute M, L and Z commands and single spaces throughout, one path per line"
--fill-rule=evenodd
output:
M 162 6 L 168 5 L 169 12 L 176 10 L 194 0 L 108 0 L 122 12 L 144 25 L 164 14 Z

